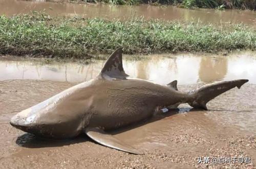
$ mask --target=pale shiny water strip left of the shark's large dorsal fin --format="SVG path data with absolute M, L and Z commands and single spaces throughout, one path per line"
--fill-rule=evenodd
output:
M 100 61 L 102 62 L 102 61 Z M 95 77 L 101 64 L 76 63 L 41 65 L 37 61 L 0 61 L 0 79 L 42 79 L 81 82 Z

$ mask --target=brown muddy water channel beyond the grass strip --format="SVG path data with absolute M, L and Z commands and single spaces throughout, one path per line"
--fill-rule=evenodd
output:
M 195 20 L 204 23 L 245 23 L 256 24 L 256 12 L 245 10 L 213 10 L 213 9 L 182 9 L 173 6 L 155 7 L 139 6 L 110 6 L 103 4 L 69 4 L 51 3 L 45 1 L 15 1 L 0 0 L 0 15 L 30 13 L 31 11 L 46 11 L 52 16 L 81 15 L 83 17 L 127 18 L 144 16 L 146 19 L 162 20 Z

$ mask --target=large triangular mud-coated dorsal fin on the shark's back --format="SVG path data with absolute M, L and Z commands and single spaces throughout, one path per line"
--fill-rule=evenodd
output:
M 122 48 L 116 49 L 106 61 L 101 70 L 102 75 L 108 75 L 112 78 L 126 78 L 127 75 L 123 70 Z

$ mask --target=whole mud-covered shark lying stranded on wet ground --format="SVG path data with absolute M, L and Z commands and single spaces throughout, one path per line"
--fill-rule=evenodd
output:
M 154 116 L 159 108 L 176 108 L 181 103 L 207 109 L 208 101 L 248 81 L 222 81 L 185 93 L 178 91 L 176 80 L 162 86 L 127 76 L 119 48 L 95 79 L 19 112 L 10 124 L 25 132 L 51 138 L 71 138 L 84 132 L 101 145 L 143 154 L 106 131 L 142 121 Z

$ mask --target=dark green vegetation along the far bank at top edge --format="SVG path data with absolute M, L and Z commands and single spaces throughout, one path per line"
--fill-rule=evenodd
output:
M 182 8 L 229 8 L 256 10 L 255 0 L 80 0 L 87 3 L 108 3 L 112 5 L 165 4 Z

